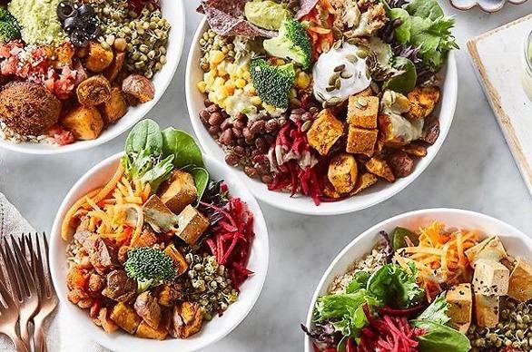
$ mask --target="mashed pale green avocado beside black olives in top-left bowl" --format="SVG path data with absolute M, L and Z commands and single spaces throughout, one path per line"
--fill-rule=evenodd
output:
M 61 43 L 66 39 L 56 15 L 61 0 L 12 0 L 9 12 L 22 27 L 26 44 Z

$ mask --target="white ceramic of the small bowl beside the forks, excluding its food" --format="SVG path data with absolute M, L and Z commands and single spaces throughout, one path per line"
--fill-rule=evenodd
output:
M 86 310 L 77 308 L 66 298 L 66 273 L 68 265 L 66 262 L 65 250 L 67 243 L 61 239 L 61 222 L 66 211 L 88 191 L 100 187 L 109 181 L 113 176 L 122 153 L 100 162 L 93 169 L 88 171 L 84 177 L 74 184 L 71 191 L 64 198 L 54 220 L 54 228 L 50 237 L 50 259 L 52 279 L 54 280 L 55 290 L 61 304 L 61 308 L 70 315 L 70 320 L 76 324 L 79 330 L 86 332 L 98 344 L 113 351 L 195 351 L 207 347 L 222 337 L 229 334 L 233 328 L 236 328 L 250 312 L 255 304 L 262 285 L 266 279 L 268 270 L 268 230 L 266 222 L 262 216 L 261 208 L 257 201 L 248 191 L 245 185 L 239 182 L 238 178 L 232 171 L 223 167 L 218 161 L 210 157 L 205 157 L 205 164 L 212 179 L 224 180 L 231 191 L 232 195 L 244 200 L 254 215 L 255 240 L 251 247 L 251 254 L 248 268 L 255 274 L 250 277 L 241 286 L 241 295 L 237 302 L 232 304 L 223 314 L 222 318 L 216 317 L 207 322 L 202 331 L 187 339 L 166 339 L 156 341 L 133 337 L 125 332 L 117 331 L 113 334 L 107 334 L 102 328 L 94 325 Z

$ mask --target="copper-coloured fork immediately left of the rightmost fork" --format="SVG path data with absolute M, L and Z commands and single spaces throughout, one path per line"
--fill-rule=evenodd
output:
M 35 288 L 32 272 L 19 244 L 13 237 L 9 236 L 11 245 L 7 238 L 4 238 L 4 249 L 7 254 L 8 264 L 6 265 L 7 276 L 9 278 L 13 299 L 18 304 L 20 337 L 25 346 L 30 348 L 30 337 L 28 322 L 34 317 L 39 307 L 39 297 Z

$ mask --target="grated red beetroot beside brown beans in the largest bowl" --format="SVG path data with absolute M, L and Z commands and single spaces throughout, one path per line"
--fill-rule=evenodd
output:
M 291 196 L 300 192 L 310 196 L 320 205 L 322 196 L 317 176 L 317 165 L 312 165 L 311 149 L 307 135 L 302 131 L 303 122 L 287 122 L 277 134 L 271 152 L 276 154 L 278 172 L 268 184 L 270 191 L 290 190 Z M 277 155 L 281 153 L 282 155 Z M 281 162 L 279 161 L 281 159 Z

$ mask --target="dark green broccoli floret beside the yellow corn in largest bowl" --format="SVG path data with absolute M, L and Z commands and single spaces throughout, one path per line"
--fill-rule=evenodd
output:
M 274 66 L 264 59 L 251 61 L 251 81 L 262 102 L 286 109 L 296 78 L 293 64 Z

